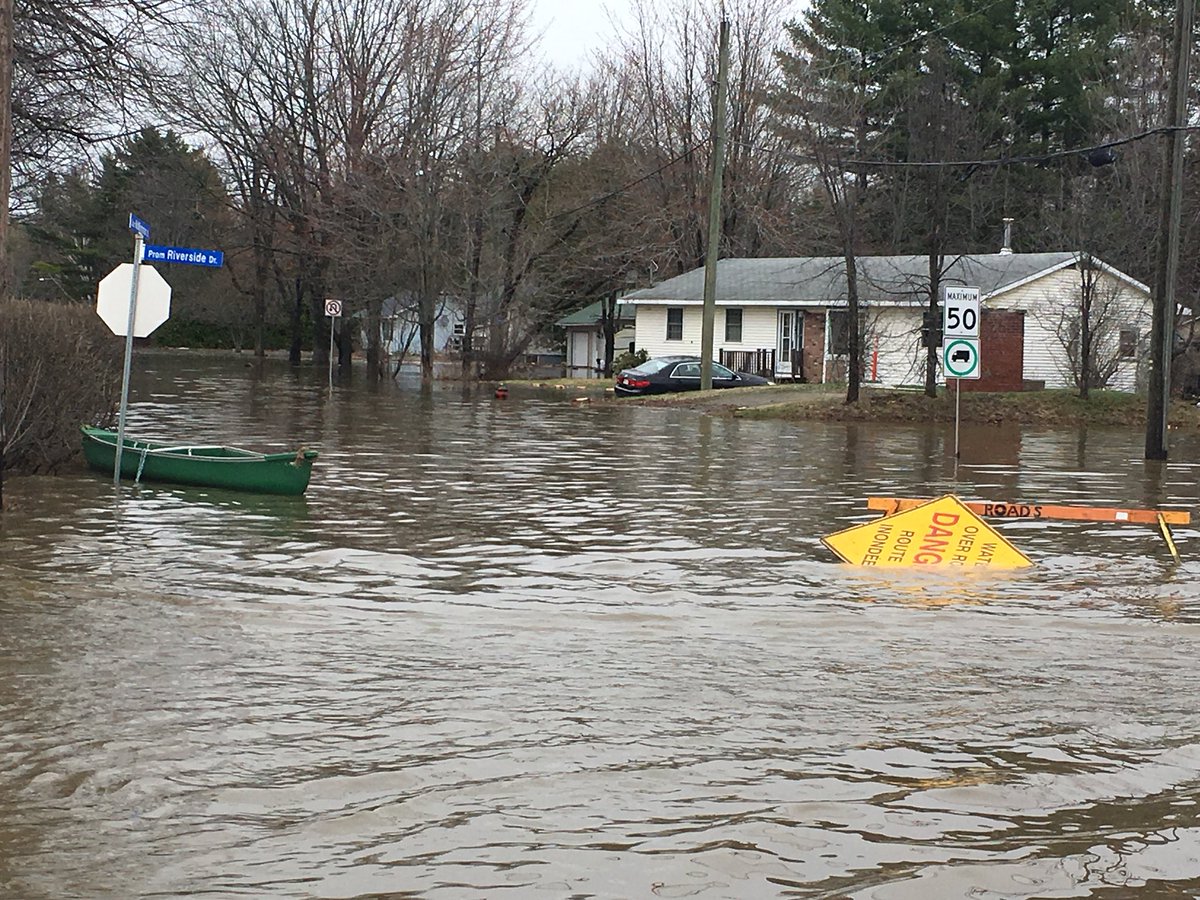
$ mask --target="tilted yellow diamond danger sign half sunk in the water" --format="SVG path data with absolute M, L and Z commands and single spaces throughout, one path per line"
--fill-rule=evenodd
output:
M 954 494 L 821 539 L 851 565 L 1024 569 L 1033 565 Z

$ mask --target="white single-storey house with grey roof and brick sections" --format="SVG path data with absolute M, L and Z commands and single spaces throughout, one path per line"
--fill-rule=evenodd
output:
M 1002 252 L 946 262 L 943 284 L 978 287 L 982 295 L 983 378 L 965 388 L 1073 386 L 1087 284 L 1093 359 L 1108 386 L 1134 389 L 1151 320 L 1145 284 L 1082 253 Z M 636 308 L 638 349 L 650 356 L 698 355 L 703 286 L 701 268 L 622 298 Z M 922 383 L 929 258 L 859 257 L 858 290 L 864 378 Z M 722 259 L 716 265 L 714 356 L 734 368 L 778 379 L 845 380 L 846 316 L 841 257 Z

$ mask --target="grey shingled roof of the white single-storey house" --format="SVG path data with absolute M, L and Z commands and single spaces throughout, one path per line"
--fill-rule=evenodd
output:
M 982 253 L 947 257 L 944 281 L 978 287 L 990 296 L 1033 276 L 1061 269 L 1075 253 Z M 1114 274 L 1136 284 L 1128 276 Z M 1145 286 L 1140 286 L 1145 287 Z M 858 257 L 858 293 L 864 302 L 924 302 L 929 257 Z M 668 278 L 622 298 L 626 302 L 702 302 L 704 269 Z M 721 304 L 839 304 L 846 300 L 842 257 L 721 259 L 716 264 L 716 301 Z

